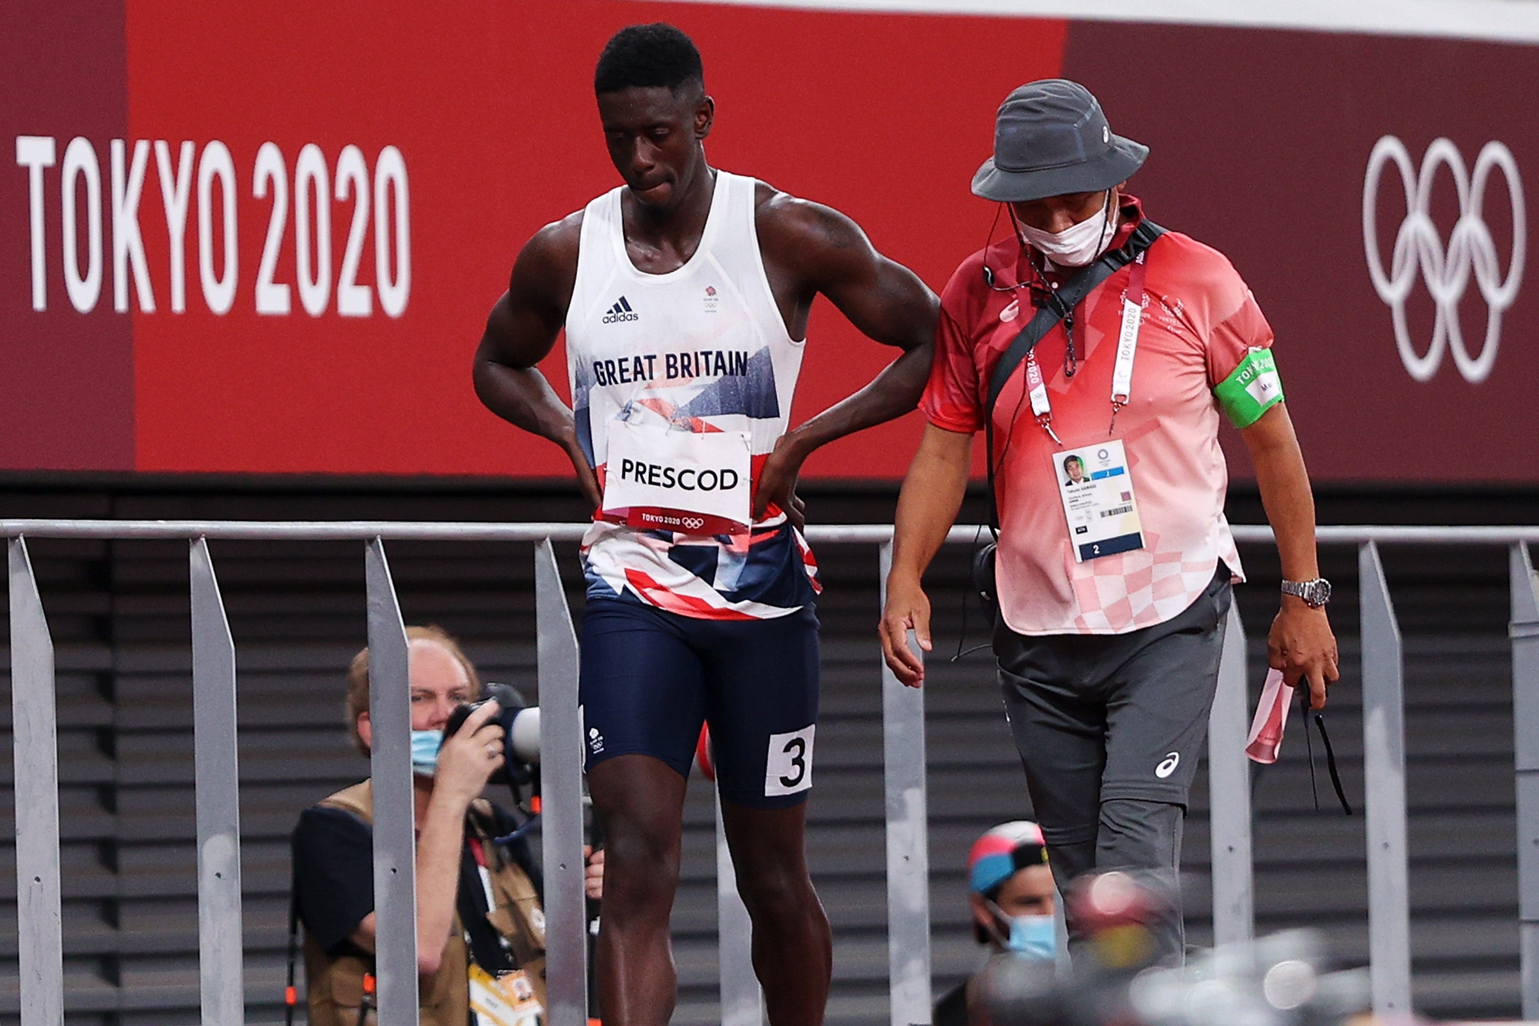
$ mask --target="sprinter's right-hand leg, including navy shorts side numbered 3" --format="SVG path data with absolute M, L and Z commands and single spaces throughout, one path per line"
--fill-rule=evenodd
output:
M 817 615 L 697 625 L 706 714 L 754 971 L 773 1026 L 817 1026 L 833 941 L 806 871 L 806 795 L 817 721 Z

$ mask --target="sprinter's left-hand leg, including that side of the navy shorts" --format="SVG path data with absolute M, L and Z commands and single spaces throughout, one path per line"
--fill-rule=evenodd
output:
M 608 1026 L 663 1026 L 677 978 L 668 915 L 685 783 L 705 718 L 700 661 L 680 617 L 589 600 L 582 708 L 588 791 L 603 829 L 599 1003 Z

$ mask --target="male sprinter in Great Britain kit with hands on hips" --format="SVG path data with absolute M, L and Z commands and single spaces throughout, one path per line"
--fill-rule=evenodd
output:
M 596 506 L 580 697 L 609 852 L 603 1020 L 660 1026 L 673 1012 L 668 914 L 685 777 L 708 720 L 770 1021 L 816 1024 L 831 972 L 802 843 L 817 578 L 793 492 L 813 449 L 914 408 L 937 300 L 837 211 L 706 163 L 716 105 L 679 29 L 617 32 L 594 92 L 625 185 L 519 254 L 476 389 L 566 449 Z M 819 292 L 903 354 L 786 431 Z M 562 328 L 574 409 L 534 366 Z

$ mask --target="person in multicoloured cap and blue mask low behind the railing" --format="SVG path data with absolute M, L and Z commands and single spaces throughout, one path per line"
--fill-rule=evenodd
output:
M 1030 820 L 1000 823 L 968 854 L 968 901 L 973 935 L 990 954 L 1014 952 L 1022 958 L 1053 961 L 1057 935 L 1053 909 L 1053 871 L 1042 829 Z M 934 1026 L 965 1026 L 973 978 L 936 1001 Z

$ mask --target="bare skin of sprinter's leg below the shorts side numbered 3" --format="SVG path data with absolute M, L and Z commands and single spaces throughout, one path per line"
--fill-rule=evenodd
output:
M 722 801 L 737 892 L 754 923 L 754 972 L 771 1026 L 817 1026 L 828 1004 L 833 935 L 806 871 L 806 804 Z

